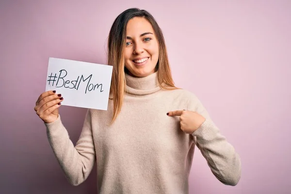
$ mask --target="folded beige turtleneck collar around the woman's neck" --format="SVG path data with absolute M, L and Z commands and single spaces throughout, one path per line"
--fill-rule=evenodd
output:
M 143 78 L 135 78 L 129 74 L 125 74 L 126 91 L 135 95 L 152 94 L 161 89 L 158 82 L 158 73 L 155 72 Z

